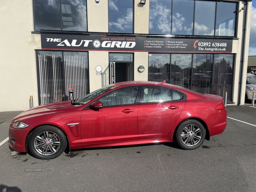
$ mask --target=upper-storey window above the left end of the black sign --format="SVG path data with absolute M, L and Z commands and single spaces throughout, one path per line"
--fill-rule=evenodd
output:
M 33 0 L 35 31 L 87 31 L 86 0 Z

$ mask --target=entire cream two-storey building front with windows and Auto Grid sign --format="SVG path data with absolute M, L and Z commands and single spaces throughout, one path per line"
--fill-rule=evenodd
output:
M 137 80 L 227 92 L 228 104 L 243 105 L 251 7 L 250 0 L 2 1 L 0 111 L 27 110 L 30 96 L 35 107 Z

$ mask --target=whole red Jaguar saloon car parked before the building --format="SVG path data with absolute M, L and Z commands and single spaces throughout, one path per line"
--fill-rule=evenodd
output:
M 126 81 L 20 113 L 9 128 L 9 146 L 44 160 L 66 148 L 175 141 L 192 150 L 226 126 L 220 96 L 164 82 Z

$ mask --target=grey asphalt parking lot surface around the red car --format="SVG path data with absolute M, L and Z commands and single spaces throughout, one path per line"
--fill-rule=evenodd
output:
M 224 133 L 193 151 L 163 143 L 77 150 L 53 160 L 10 151 L 9 124 L 20 112 L 0 112 L 0 192 L 256 191 L 256 107 L 228 105 Z

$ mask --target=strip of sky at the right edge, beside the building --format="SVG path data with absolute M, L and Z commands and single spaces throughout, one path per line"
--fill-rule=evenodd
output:
M 252 7 L 249 55 L 256 55 L 256 0 L 253 0 Z

